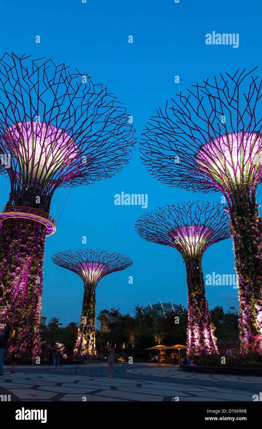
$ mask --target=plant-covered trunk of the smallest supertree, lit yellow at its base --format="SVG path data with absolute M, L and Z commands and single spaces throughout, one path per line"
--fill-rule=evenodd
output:
M 76 353 L 94 355 L 95 351 L 95 285 L 85 285 L 82 314 L 76 340 Z

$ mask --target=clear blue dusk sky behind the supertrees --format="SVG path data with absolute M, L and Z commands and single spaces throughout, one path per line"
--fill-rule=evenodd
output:
M 190 85 L 220 73 L 258 66 L 262 75 L 261 2 L 243 0 L 133 0 L 82 3 L 82 0 L 13 0 L 1 5 L 1 50 L 32 58 L 52 58 L 92 76 L 127 107 L 139 141 L 143 127 L 159 106 Z M 207 33 L 238 33 L 239 47 L 207 45 Z M 40 43 L 36 43 L 40 36 Z M 128 43 L 133 36 L 133 43 Z M 179 76 L 180 83 L 175 83 Z M 137 145 L 138 146 L 138 145 Z M 2 180 L 2 179 L 1 179 Z M 3 183 L 3 190 L 8 191 Z M 0 205 L 6 203 L 1 193 Z M 115 194 L 148 194 L 148 208 L 115 205 Z M 56 196 L 57 193 L 57 196 Z M 186 272 L 173 248 L 143 241 L 134 223 L 148 210 L 176 202 L 221 202 L 220 193 L 198 194 L 170 188 L 144 168 L 138 148 L 128 166 L 114 178 L 88 187 L 56 191 L 50 214 L 58 215 L 57 231 L 47 237 L 42 313 L 66 325 L 79 322 L 83 284 L 73 272 L 52 263 L 52 254 L 73 248 L 100 248 L 126 254 L 133 265 L 103 278 L 97 286 L 96 313 L 119 308 L 131 313 L 135 305 L 158 302 L 187 307 Z M 62 215 L 63 206 L 68 196 Z M 262 202 L 262 187 L 257 192 Z M 82 237 L 87 244 L 82 244 Z M 232 240 L 210 248 L 203 258 L 207 274 L 235 274 Z M 128 283 L 129 276 L 133 284 Z M 233 286 L 207 286 L 209 308 L 238 308 Z

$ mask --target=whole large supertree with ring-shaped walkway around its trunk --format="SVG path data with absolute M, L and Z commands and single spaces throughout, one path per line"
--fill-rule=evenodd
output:
M 86 73 L 43 58 L 0 60 L 1 172 L 9 201 L 0 213 L 0 327 L 39 349 L 44 245 L 58 187 L 92 184 L 128 163 L 134 129 L 125 108 Z

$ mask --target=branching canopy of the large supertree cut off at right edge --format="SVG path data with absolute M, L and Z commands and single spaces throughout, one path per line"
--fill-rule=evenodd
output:
M 252 189 L 262 175 L 262 80 L 254 70 L 192 85 L 158 109 L 143 133 L 146 169 L 189 190 Z

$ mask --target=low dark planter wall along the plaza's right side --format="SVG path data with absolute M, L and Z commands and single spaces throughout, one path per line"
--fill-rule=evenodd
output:
M 229 368 L 222 366 L 182 365 L 183 371 L 205 374 L 253 375 L 262 377 L 262 368 Z

